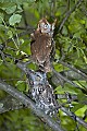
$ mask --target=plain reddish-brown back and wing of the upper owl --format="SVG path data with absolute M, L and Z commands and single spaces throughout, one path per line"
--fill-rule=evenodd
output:
M 33 59 L 38 63 L 44 63 L 52 50 L 51 38 L 45 34 L 35 34 L 35 39 L 30 44 Z

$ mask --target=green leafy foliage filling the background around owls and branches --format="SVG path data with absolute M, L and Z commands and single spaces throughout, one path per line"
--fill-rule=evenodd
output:
M 70 0 L 67 0 L 70 1 Z M 59 32 L 62 20 L 77 2 L 72 0 L 67 3 L 66 0 L 0 0 L 0 78 L 7 83 L 15 86 L 23 93 L 28 91 L 26 76 L 14 64 L 14 59 L 27 61 L 24 55 L 30 55 L 30 33 L 36 28 L 39 19 L 47 16 L 49 21 L 57 17 L 58 23 L 54 33 L 55 39 L 55 59 L 70 63 L 72 67 L 84 71 L 87 74 L 87 1 L 83 0 L 80 5 L 76 8 L 64 23 Z M 18 35 L 20 34 L 20 35 Z M 5 57 L 7 56 L 7 57 Z M 69 71 L 69 67 L 53 62 L 55 71 Z M 29 64 L 30 69 L 36 70 L 37 66 Z M 86 72 L 85 72 L 86 71 Z M 72 75 L 73 72 L 71 72 Z M 79 78 L 79 76 L 77 76 Z M 79 79 L 74 75 L 74 82 L 80 88 L 74 87 L 69 83 L 55 85 L 58 95 L 69 93 L 76 95 L 78 102 L 71 102 L 71 110 L 77 116 L 87 121 L 87 80 Z M 58 81 L 58 80 L 57 80 Z M 83 90 L 85 92 L 83 92 Z M 4 96 L 1 92 L 0 96 Z M 58 99 L 59 103 L 66 104 L 66 98 Z M 65 105 L 69 107 L 69 105 Z M 69 116 L 60 110 L 60 119 L 62 126 L 67 131 L 73 131 L 76 122 L 71 120 Z M 4 123 L 5 119 L 5 123 Z M 37 121 L 37 122 L 36 122 Z M 0 129 L 8 130 L 51 130 L 45 128 L 44 124 L 32 115 L 28 109 L 10 111 L 0 115 Z M 15 124 L 15 129 L 13 129 Z M 83 126 L 79 126 L 80 131 L 86 131 Z

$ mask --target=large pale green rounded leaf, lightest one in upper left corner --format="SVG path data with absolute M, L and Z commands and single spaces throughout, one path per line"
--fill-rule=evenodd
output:
M 16 23 L 20 23 L 22 19 L 22 15 L 20 14 L 13 14 L 10 19 L 9 19 L 9 23 L 10 25 L 15 25 Z

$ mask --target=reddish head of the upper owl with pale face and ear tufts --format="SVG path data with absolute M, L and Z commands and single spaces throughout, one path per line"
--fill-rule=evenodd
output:
M 55 22 L 57 20 L 52 24 L 50 24 L 46 19 L 42 19 L 38 23 L 37 31 L 39 31 L 41 34 L 48 34 L 49 36 L 52 36 Z

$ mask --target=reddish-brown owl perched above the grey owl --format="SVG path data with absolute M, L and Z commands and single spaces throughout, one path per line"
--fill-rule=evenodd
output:
M 39 21 L 37 29 L 32 34 L 32 58 L 46 73 L 51 71 L 51 52 L 54 52 L 52 38 L 54 25 L 55 21 L 50 24 L 46 19 L 42 19 Z

